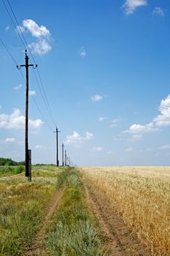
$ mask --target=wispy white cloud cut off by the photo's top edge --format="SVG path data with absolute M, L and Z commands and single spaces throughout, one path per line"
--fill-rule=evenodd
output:
M 125 14 L 130 15 L 134 13 L 136 8 L 143 7 L 147 5 L 147 0 L 125 0 L 123 7 L 125 9 Z

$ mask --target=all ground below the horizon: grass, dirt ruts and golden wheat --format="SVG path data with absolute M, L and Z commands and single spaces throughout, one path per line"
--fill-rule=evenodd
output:
M 0 168 L 0 255 L 170 255 L 169 167 Z

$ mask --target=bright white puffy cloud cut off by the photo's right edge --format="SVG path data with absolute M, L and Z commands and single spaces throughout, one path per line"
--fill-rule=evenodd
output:
M 161 105 L 158 110 L 161 112 L 161 115 L 153 118 L 155 125 L 158 127 L 170 126 L 170 94 L 166 99 L 161 100 Z

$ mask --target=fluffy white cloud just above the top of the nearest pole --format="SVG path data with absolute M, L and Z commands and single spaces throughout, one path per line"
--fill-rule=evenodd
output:
M 50 31 L 43 25 L 39 26 L 34 20 L 23 20 L 23 25 L 17 27 L 18 33 L 29 32 L 32 37 L 36 38 L 36 42 L 31 42 L 28 47 L 32 53 L 39 56 L 48 53 L 52 47 L 50 45 L 51 34 Z

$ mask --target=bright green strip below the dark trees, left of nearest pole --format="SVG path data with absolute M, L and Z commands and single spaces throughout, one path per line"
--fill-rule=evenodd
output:
M 12 176 L 18 173 L 23 173 L 25 166 L 0 166 L 0 176 Z

